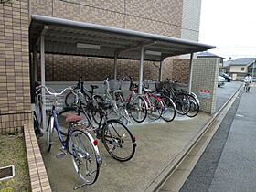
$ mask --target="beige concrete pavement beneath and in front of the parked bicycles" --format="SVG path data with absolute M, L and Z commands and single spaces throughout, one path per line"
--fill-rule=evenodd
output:
M 193 119 L 179 117 L 172 123 L 130 126 L 137 138 L 133 159 L 126 163 L 117 162 L 100 144 L 103 165 L 99 180 L 95 185 L 78 191 L 150 191 L 209 119 L 208 114 L 199 112 Z M 46 152 L 46 138 L 41 138 L 38 142 L 50 185 L 53 191 L 71 191 L 79 179 L 75 175 L 69 155 L 63 159 L 55 157 L 60 148 L 57 136 L 55 138 L 56 142 L 49 154 Z

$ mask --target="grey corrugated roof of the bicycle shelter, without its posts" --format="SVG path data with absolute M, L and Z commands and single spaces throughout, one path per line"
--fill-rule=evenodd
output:
M 114 58 L 116 51 L 118 52 L 124 48 L 133 48 L 120 53 L 118 58 L 140 59 L 141 50 L 136 47 L 142 46 L 144 43 L 154 42 L 154 44 L 145 46 L 144 49 L 162 52 L 162 56 L 144 54 L 144 59 L 160 61 L 167 56 L 176 56 L 215 48 L 184 39 L 165 37 L 124 28 L 106 27 L 50 16 L 32 15 L 31 18 L 32 21 L 29 28 L 31 51 L 37 38 L 40 37 L 44 26 L 48 26 L 45 34 L 45 51 L 47 53 Z M 77 48 L 77 43 L 100 45 L 101 49 Z

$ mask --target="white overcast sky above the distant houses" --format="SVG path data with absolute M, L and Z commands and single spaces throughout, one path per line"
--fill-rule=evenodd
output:
M 223 58 L 256 58 L 256 0 L 202 0 L 199 42 Z

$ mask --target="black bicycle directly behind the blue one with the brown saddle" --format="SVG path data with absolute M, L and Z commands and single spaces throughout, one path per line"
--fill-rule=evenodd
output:
M 84 107 L 83 101 L 79 101 L 75 108 L 67 108 L 59 112 L 59 118 L 65 117 L 69 112 L 75 112 L 81 116 L 81 121 L 96 134 L 104 144 L 107 152 L 118 161 L 124 162 L 133 158 L 136 147 L 136 140 L 131 131 L 123 123 L 116 119 L 108 119 L 112 105 L 110 103 L 99 102 L 98 108 L 93 109 L 100 114 L 98 127 L 91 122 L 90 108 L 94 108 L 92 101 Z M 61 126 L 60 133 L 68 135 L 68 127 Z

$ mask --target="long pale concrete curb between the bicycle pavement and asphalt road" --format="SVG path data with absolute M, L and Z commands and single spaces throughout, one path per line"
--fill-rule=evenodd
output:
M 183 159 L 187 156 L 189 151 L 192 150 L 192 148 L 197 144 L 197 142 L 200 140 L 200 138 L 203 136 L 204 133 L 208 131 L 208 128 L 210 125 L 215 123 L 217 118 L 219 117 L 220 113 L 228 106 L 229 102 L 242 91 L 242 85 L 240 88 L 235 91 L 230 97 L 229 100 L 226 101 L 222 107 L 219 109 L 218 112 L 215 112 L 214 115 L 208 120 L 208 123 L 206 123 L 198 132 L 195 137 L 188 142 L 188 144 L 184 147 L 184 149 L 176 155 L 176 158 L 172 160 L 168 165 L 166 165 L 165 169 L 162 171 L 162 173 L 155 177 L 155 180 L 144 189 L 144 191 L 158 191 L 163 185 L 165 184 L 165 181 L 171 176 L 171 174 L 174 172 L 176 167 L 183 161 Z M 229 106 L 230 107 L 230 106 Z M 223 117 L 224 118 L 224 117 Z M 221 119 L 221 121 L 223 120 Z

